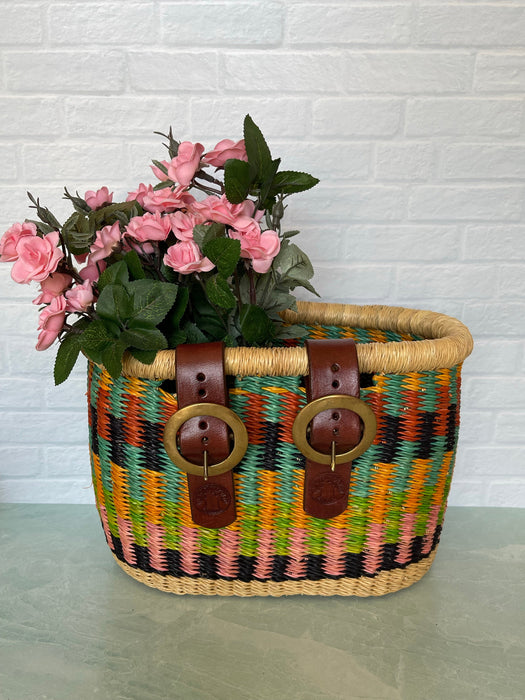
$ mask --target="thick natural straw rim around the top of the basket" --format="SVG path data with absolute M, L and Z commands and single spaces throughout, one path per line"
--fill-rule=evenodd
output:
M 321 302 L 298 302 L 297 308 L 297 313 L 288 311 L 283 318 L 290 323 L 391 330 L 425 338 L 358 344 L 361 372 L 402 374 L 451 368 L 472 352 L 468 328 L 461 321 L 434 311 Z M 175 352 L 161 350 L 151 365 L 127 356 L 123 374 L 143 379 L 175 379 Z M 231 375 L 308 374 L 305 348 L 226 348 L 224 363 L 226 374 Z

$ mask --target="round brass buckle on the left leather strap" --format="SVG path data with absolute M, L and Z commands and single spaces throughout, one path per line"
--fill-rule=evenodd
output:
M 185 459 L 177 447 L 177 433 L 181 425 L 190 418 L 212 416 L 224 421 L 233 432 L 233 449 L 230 454 L 217 464 L 208 464 L 207 453 L 204 456 L 204 465 L 194 464 Z M 164 448 L 173 464 L 186 474 L 197 476 L 217 476 L 233 469 L 244 457 L 248 448 L 248 432 L 242 420 L 231 409 L 217 403 L 194 403 L 176 411 L 166 423 L 164 428 Z

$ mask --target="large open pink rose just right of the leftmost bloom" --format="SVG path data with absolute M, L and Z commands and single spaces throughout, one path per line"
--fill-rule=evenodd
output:
M 16 245 L 18 260 L 11 270 L 11 277 L 19 284 L 42 282 L 57 269 L 64 253 L 57 248 L 58 231 L 52 231 L 43 238 L 24 236 Z

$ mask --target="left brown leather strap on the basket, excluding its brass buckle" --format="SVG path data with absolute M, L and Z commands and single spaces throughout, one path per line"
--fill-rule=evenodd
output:
M 222 343 L 179 345 L 176 351 L 177 405 L 194 403 L 228 405 Z M 180 429 L 180 453 L 188 461 L 216 464 L 230 453 L 229 429 L 219 418 L 190 418 Z M 191 516 L 196 525 L 226 527 L 236 518 L 233 473 L 218 476 L 188 474 Z

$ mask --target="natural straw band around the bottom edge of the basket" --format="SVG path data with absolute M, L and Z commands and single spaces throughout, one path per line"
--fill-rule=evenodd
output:
M 113 554 L 113 552 L 112 552 Z M 120 561 L 115 554 L 113 558 L 123 571 L 140 583 L 175 595 L 221 595 L 221 596 L 273 596 L 284 595 L 355 595 L 362 598 L 395 593 L 408 588 L 421 579 L 432 566 L 436 550 L 426 559 L 409 564 L 404 569 L 382 571 L 373 578 L 324 579 L 323 581 L 215 581 L 206 578 L 176 578 L 161 574 L 147 573 L 134 569 Z

